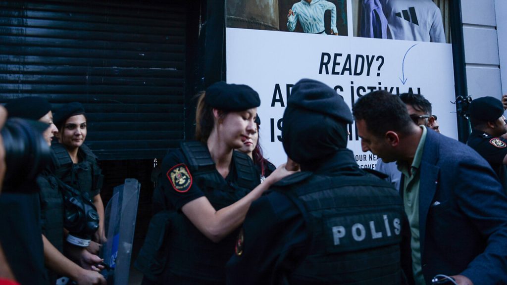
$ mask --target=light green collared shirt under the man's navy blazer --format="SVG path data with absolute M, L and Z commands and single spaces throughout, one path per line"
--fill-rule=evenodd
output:
M 419 183 L 420 183 L 420 166 L 422 159 L 422 151 L 424 149 L 424 141 L 426 140 L 426 127 L 422 128 L 422 136 L 415 151 L 414 161 L 410 167 L 411 175 L 409 174 L 409 165 L 407 162 L 397 162 L 398 169 L 404 175 L 403 184 L 403 203 L 405 205 L 405 213 L 410 223 L 410 231 L 412 238 L 410 240 L 410 247 L 412 248 L 412 271 L 414 272 L 414 279 L 417 285 L 425 285 L 424 276 L 422 275 L 421 267 L 421 246 L 419 241 Z

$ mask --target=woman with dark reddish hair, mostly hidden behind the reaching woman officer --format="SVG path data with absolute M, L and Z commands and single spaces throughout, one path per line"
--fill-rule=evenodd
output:
M 266 177 L 275 171 L 276 166 L 263 156 L 262 147 L 259 141 L 259 132 L 261 131 L 261 119 L 259 118 L 259 114 L 256 117 L 255 123 L 257 126 L 256 132 L 252 134 L 251 139 L 245 139 L 243 141 L 243 146 L 238 149 L 238 151 L 248 155 L 253 160 L 253 164 L 255 164 L 257 170 L 259 171 L 259 175 L 261 176 L 262 183 L 266 180 Z

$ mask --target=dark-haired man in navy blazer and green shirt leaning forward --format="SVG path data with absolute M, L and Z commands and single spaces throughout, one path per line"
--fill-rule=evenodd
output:
M 396 95 L 375 91 L 352 109 L 363 151 L 403 172 L 415 284 L 507 283 L 507 197 L 489 164 L 459 141 L 419 127 Z

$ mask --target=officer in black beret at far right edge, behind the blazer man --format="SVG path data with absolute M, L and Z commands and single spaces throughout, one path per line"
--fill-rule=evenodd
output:
M 473 100 L 468 108 L 472 133 L 466 144 L 476 150 L 495 170 L 507 191 L 507 124 L 502 102 L 493 97 Z

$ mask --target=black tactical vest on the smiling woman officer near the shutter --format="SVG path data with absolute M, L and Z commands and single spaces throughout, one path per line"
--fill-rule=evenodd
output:
M 84 159 L 76 164 L 72 162 L 62 144 L 53 143 L 51 148 L 55 156 L 56 176 L 63 183 L 82 193 L 88 193 L 90 200 L 93 200 L 94 193 L 102 188 L 104 177 L 97 164 L 97 157 L 90 148 L 84 144 L 79 148 Z

